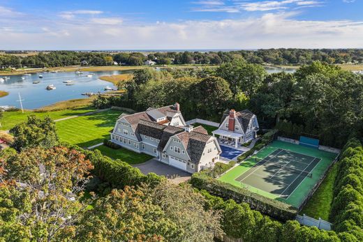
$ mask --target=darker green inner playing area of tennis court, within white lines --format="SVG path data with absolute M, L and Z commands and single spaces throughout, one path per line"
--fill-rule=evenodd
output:
M 269 156 L 255 160 L 257 164 L 236 180 L 287 199 L 304 179 L 313 177 L 311 171 L 321 159 L 276 149 Z

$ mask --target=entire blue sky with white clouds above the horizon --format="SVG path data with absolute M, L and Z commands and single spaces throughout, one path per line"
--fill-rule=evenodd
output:
M 363 0 L 0 0 L 0 50 L 363 47 L 362 12 Z

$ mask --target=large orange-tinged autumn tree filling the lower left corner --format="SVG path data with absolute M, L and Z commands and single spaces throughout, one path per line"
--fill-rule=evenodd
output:
M 0 153 L 0 238 L 61 241 L 74 236 L 91 162 L 65 147 Z

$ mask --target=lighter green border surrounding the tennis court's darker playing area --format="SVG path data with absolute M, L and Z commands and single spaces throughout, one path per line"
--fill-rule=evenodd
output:
M 316 165 L 316 167 L 313 168 L 312 173 L 313 177 L 309 179 L 304 179 L 302 183 L 297 186 L 297 188 L 291 193 L 291 195 L 287 199 L 283 199 L 281 197 L 278 197 L 276 195 L 273 195 L 269 192 L 265 192 L 264 190 L 259 190 L 257 188 L 253 188 L 251 186 L 248 187 L 249 190 L 252 192 L 258 193 L 260 195 L 263 195 L 265 197 L 269 197 L 271 199 L 278 199 L 282 202 L 286 202 L 288 204 L 291 204 L 292 206 L 298 207 L 304 200 L 304 197 L 309 193 L 309 191 L 315 186 L 315 184 L 320 179 L 320 176 L 325 172 L 327 167 L 332 163 L 334 158 L 336 157 L 336 154 L 334 153 L 328 153 L 325 151 L 320 151 L 318 149 L 312 149 L 305 146 L 299 146 L 297 144 L 290 144 L 286 142 L 281 141 L 274 141 L 272 144 L 269 144 L 265 149 L 262 149 L 259 151 L 255 157 L 259 159 L 263 159 L 267 157 L 270 153 L 273 151 L 276 151 L 276 149 L 285 149 L 288 151 L 293 151 L 296 153 L 300 153 L 306 156 L 313 156 L 316 158 L 320 158 L 320 162 Z M 248 158 L 244 160 L 241 165 L 235 167 L 230 172 L 224 174 L 221 176 L 218 180 L 224 181 L 226 183 L 230 183 L 234 186 L 238 186 L 240 188 L 243 188 L 244 185 L 240 183 L 239 181 L 236 181 L 237 177 L 244 174 L 244 172 L 248 171 L 253 167 L 259 160 L 255 160 L 255 158 Z

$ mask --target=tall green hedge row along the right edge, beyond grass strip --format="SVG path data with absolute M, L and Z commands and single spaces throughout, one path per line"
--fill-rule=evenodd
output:
M 336 232 L 363 241 L 363 146 L 355 138 L 344 146 L 338 162 L 330 220 Z

